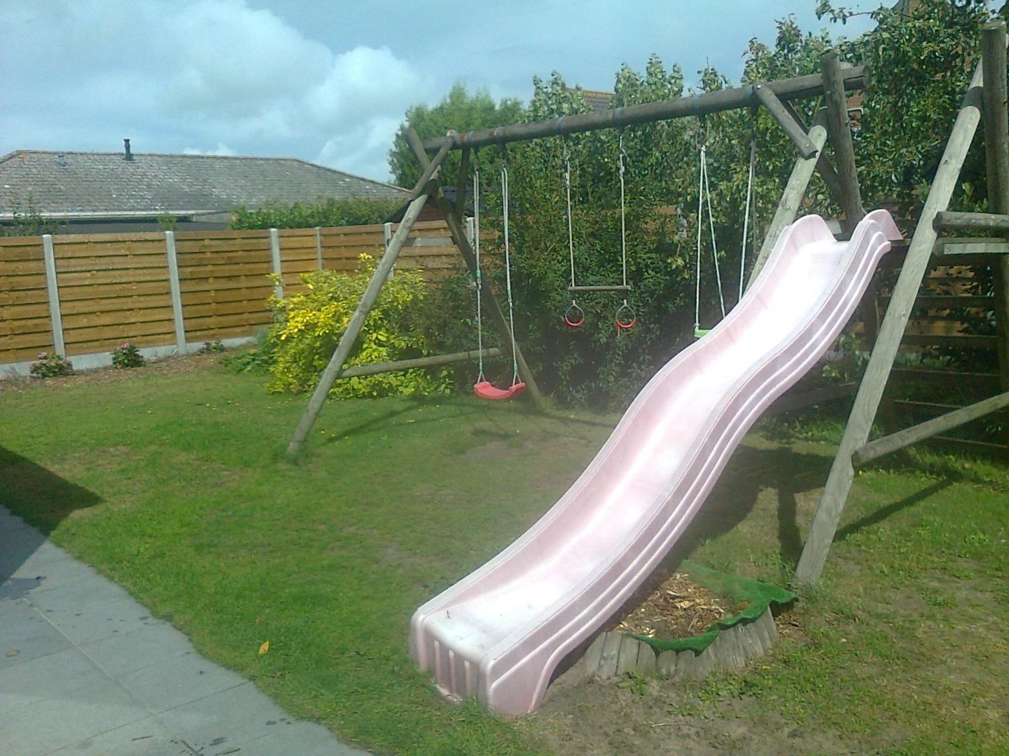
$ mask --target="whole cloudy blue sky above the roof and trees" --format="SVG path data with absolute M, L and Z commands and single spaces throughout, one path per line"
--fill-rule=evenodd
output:
M 877 2 L 846 0 L 869 10 Z M 300 157 L 388 180 L 411 105 L 456 82 L 528 101 L 534 76 L 608 90 L 655 52 L 736 81 L 815 0 L 0 0 L 0 154 L 122 149 Z M 831 33 L 855 36 L 853 19 Z

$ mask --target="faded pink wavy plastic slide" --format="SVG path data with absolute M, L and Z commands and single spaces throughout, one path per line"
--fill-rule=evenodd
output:
M 450 698 L 536 709 L 561 659 L 658 565 L 761 412 L 826 351 L 900 233 L 789 226 L 754 285 L 642 389 L 591 464 L 532 528 L 422 606 L 410 650 Z

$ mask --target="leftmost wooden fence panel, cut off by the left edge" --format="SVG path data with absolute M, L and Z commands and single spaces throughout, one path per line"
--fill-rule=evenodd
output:
M 42 240 L 0 239 L 0 364 L 54 349 Z

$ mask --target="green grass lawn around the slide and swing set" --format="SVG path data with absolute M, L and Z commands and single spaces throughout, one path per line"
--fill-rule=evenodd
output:
M 1005 467 L 920 455 L 927 475 L 861 475 L 821 588 L 766 663 L 644 695 L 559 686 L 540 715 L 506 721 L 438 699 L 407 655 L 410 615 L 532 524 L 615 418 L 331 402 L 293 465 L 305 397 L 178 362 L 193 369 L 0 390 L 0 502 L 347 742 L 652 753 L 700 733 L 684 752 L 770 752 L 779 737 L 793 752 L 1009 750 Z M 835 434 L 752 434 L 671 559 L 787 580 Z

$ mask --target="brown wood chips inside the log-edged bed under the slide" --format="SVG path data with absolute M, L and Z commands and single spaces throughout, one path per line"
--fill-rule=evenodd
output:
M 626 614 L 615 629 L 665 640 L 689 638 L 742 608 L 698 586 L 683 573 L 675 573 Z

